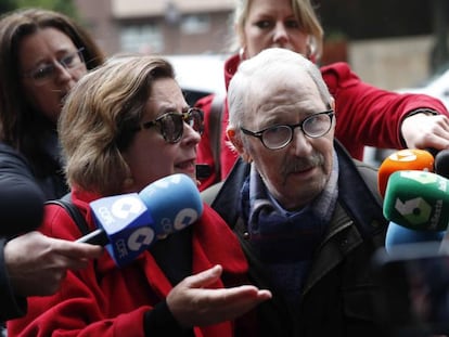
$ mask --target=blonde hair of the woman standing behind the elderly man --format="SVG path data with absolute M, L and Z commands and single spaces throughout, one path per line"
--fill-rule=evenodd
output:
M 253 0 L 235 0 L 233 14 L 236 36 L 231 41 L 232 51 L 238 50 L 241 46 L 241 39 L 244 36 L 244 26 L 248 16 L 249 7 Z M 323 28 L 317 17 L 310 0 L 291 0 L 292 9 L 296 20 L 299 22 L 303 31 L 310 35 L 309 38 L 309 59 L 319 60 L 323 49 Z

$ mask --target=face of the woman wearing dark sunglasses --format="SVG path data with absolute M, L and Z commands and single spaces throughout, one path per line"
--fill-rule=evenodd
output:
M 174 79 L 157 79 L 152 86 L 141 122 L 155 120 L 167 113 L 181 114 L 188 108 L 181 89 Z M 123 154 L 131 170 L 134 183 L 132 190 L 141 191 L 153 181 L 175 173 L 188 174 L 196 181 L 196 145 L 200 140 L 200 133 L 185 122 L 182 138 L 177 143 L 166 142 L 158 126 L 137 131 Z

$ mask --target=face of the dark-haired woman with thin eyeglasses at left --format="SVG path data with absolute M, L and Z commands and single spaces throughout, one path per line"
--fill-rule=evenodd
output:
M 86 65 L 76 63 L 65 68 L 57 61 L 77 62 L 77 48 L 62 31 L 43 28 L 25 37 L 18 48 L 22 85 L 29 104 L 53 122 L 57 121 L 68 90 L 87 73 Z M 67 59 L 68 57 L 68 59 Z M 52 76 L 48 74 L 53 65 Z M 50 66 L 50 67 L 49 67 Z M 39 75 L 40 74 L 40 75 Z M 42 76 L 44 80 L 42 80 Z

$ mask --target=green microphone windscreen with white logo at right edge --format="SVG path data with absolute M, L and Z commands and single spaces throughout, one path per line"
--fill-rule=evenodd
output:
M 393 173 L 384 198 L 384 216 L 412 230 L 446 231 L 449 223 L 449 180 L 436 173 L 406 170 Z

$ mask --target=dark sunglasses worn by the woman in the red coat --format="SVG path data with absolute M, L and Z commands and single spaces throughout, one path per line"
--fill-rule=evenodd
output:
M 141 124 L 137 131 L 157 126 L 166 142 L 178 143 L 184 132 L 184 122 L 193 130 L 202 134 L 204 130 L 203 111 L 196 107 L 191 107 L 182 114 L 167 113 L 155 120 Z

